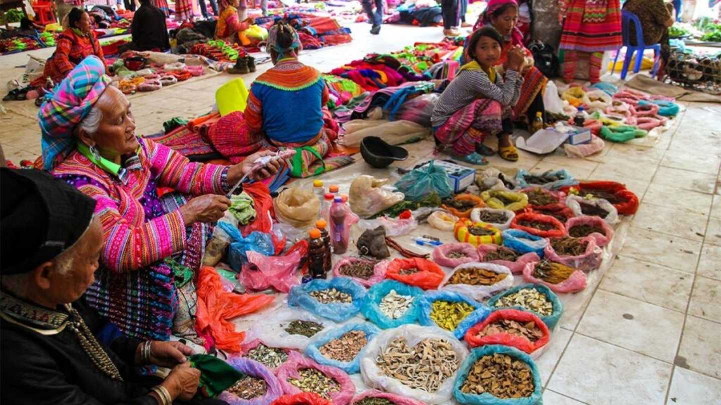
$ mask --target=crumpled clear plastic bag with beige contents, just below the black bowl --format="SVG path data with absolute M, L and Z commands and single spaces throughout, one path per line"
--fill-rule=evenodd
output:
M 404 200 L 402 192 L 384 190 L 383 185 L 388 179 L 376 179 L 372 176 L 356 177 L 350 183 L 348 201 L 353 213 L 361 218 L 368 218 L 392 207 Z

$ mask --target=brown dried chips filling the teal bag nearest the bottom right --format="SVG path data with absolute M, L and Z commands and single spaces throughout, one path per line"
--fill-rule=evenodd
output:
M 464 393 L 490 393 L 500 399 L 524 398 L 534 393 L 531 368 L 508 355 L 489 355 L 476 360 L 461 386 Z

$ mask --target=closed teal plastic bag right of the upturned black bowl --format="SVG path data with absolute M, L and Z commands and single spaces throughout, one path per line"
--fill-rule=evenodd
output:
M 406 200 L 412 201 L 423 200 L 434 192 L 441 198 L 448 198 L 453 194 L 446 169 L 436 166 L 433 161 L 430 161 L 428 166 L 413 169 L 394 185 L 403 192 Z

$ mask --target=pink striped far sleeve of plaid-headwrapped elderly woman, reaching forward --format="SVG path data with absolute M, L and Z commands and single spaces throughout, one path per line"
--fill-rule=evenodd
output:
M 172 187 L 190 195 L 224 194 L 224 172 L 228 166 L 192 162 L 167 146 L 143 139 L 151 173 L 159 187 Z

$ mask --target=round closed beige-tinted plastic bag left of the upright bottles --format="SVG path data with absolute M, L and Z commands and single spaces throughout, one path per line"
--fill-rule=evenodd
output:
M 278 221 L 296 228 L 306 228 L 318 218 L 320 200 L 313 190 L 291 187 L 275 197 L 273 207 Z

